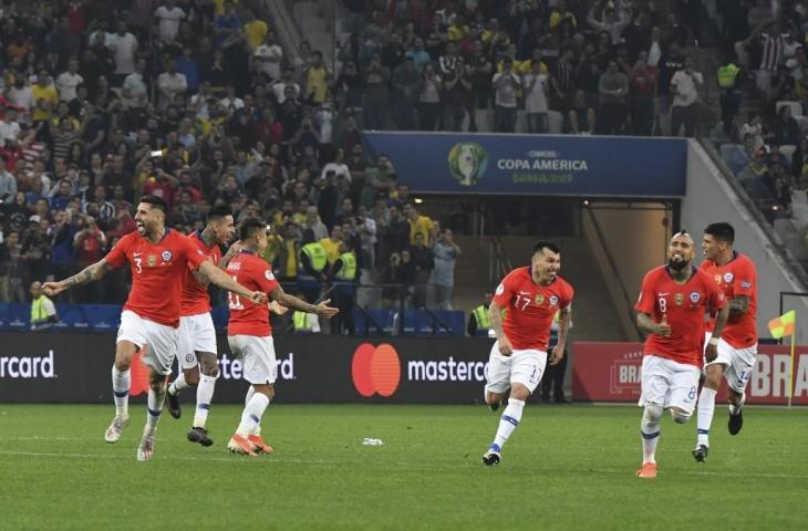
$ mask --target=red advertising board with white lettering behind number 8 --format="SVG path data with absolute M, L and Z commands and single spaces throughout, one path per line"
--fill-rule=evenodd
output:
M 642 378 L 642 343 L 576 342 L 572 399 L 636 402 Z M 747 404 L 787 404 L 790 351 L 788 345 L 760 345 L 746 387 Z M 718 400 L 723 402 L 726 383 Z M 797 346 L 793 404 L 808 405 L 808 345 Z

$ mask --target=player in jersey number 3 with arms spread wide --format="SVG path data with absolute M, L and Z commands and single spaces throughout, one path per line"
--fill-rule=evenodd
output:
M 45 282 L 43 287 L 45 293 L 55 295 L 75 284 L 96 281 L 110 268 L 120 268 L 130 262 L 132 291 L 121 313 L 115 364 L 112 367 L 116 413 L 104 438 L 107 442 L 116 442 L 130 421 L 130 366 L 135 352 L 148 345 L 143 354 L 143 363 L 148 367 L 148 412 L 137 447 L 139 461 L 148 460 L 154 455 L 155 433 L 165 402 L 165 379 L 172 372 L 177 354 L 179 302 L 186 270 L 198 269 L 213 283 L 235 292 L 239 298 L 257 303 L 266 302 L 263 293 L 238 284 L 187 237 L 167 228 L 166 211 L 167 206 L 162 198 L 142 198 L 135 214 L 137 231 L 121 238 L 106 257 L 77 274 L 59 282 Z

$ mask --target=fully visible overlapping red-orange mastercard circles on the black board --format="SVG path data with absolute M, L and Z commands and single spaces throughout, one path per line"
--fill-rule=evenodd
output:
M 392 396 L 401 382 L 401 360 L 393 345 L 362 343 L 353 353 L 351 375 L 356 392 L 365 397 Z

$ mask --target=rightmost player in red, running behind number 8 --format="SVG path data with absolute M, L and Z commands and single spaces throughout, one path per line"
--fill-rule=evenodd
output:
M 744 389 L 755 368 L 757 355 L 757 274 L 753 261 L 733 250 L 735 229 L 729 223 L 713 223 L 704 229 L 702 271 L 713 279 L 728 301 L 729 319 L 718 340 L 718 356 L 704 365 L 705 379 L 698 395 L 696 416 L 697 438 L 693 457 L 704 462 L 709 449 L 709 425 L 715 410 L 715 394 L 721 377 L 727 382 L 729 402 L 728 428 L 737 435 L 744 425 L 742 408 Z M 714 321 L 707 323 L 706 340 L 711 341 Z

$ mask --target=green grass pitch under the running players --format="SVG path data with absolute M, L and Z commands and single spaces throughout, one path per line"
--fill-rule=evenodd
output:
M 636 407 L 530 405 L 486 468 L 483 406 L 272 405 L 258 458 L 226 449 L 239 407 L 214 406 L 201 448 L 184 406 L 137 462 L 145 406 L 108 445 L 112 406 L 0 405 L 0 529 L 808 529 L 806 408 L 747 407 L 737 437 L 716 408 L 705 465 L 695 418 L 666 416 L 660 476 L 640 480 Z

